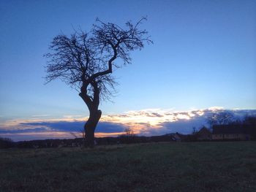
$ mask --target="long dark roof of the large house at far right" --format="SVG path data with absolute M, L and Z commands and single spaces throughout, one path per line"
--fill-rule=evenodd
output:
M 218 125 L 213 126 L 213 134 L 249 134 L 251 128 L 241 125 Z

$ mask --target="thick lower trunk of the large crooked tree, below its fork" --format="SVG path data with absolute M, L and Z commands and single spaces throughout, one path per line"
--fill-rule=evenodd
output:
M 91 148 L 94 147 L 94 131 L 101 116 L 102 116 L 101 110 L 90 111 L 89 119 L 84 125 L 84 130 L 86 133 L 86 140 L 85 140 L 86 147 L 91 147 Z

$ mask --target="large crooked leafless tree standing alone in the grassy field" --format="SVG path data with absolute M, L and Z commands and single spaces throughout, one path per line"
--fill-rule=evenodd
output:
M 71 37 L 60 34 L 53 38 L 46 66 L 47 82 L 57 78 L 79 91 L 79 96 L 89 109 L 89 119 L 84 129 L 86 145 L 94 147 L 94 131 L 101 118 L 101 100 L 110 99 L 115 93 L 116 82 L 111 75 L 113 69 L 130 64 L 129 53 L 140 50 L 145 43 L 151 43 L 146 30 L 138 23 L 126 23 L 125 28 L 114 23 L 103 23 L 97 19 L 89 33 L 75 31 Z

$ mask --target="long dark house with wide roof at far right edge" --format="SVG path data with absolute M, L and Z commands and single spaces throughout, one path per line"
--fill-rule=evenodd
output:
M 250 140 L 252 129 L 241 124 L 213 126 L 213 140 Z

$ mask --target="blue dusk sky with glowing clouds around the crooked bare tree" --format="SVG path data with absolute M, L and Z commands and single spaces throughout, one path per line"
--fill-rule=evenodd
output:
M 57 135 L 47 123 L 86 120 L 89 112 L 77 91 L 59 80 L 45 85 L 43 55 L 53 37 L 78 28 L 90 31 L 96 18 L 124 26 L 147 16 L 140 27 L 154 42 L 131 53 L 132 64 L 113 73 L 118 93 L 99 106 L 109 134 L 118 134 L 129 123 L 150 122 L 140 134 L 158 134 L 157 126 L 161 133 L 175 129 L 159 126 L 173 116 L 158 117 L 152 124 L 143 120 L 145 111 L 182 115 L 216 106 L 256 109 L 256 1 L 4 0 L 0 12 L 0 137 L 33 139 L 32 131 L 42 134 L 40 138 L 68 137 L 70 126 L 68 131 L 58 129 Z M 116 121 L 115 115 L 127 114 L 137 118 Z M 78 131 L 82 124 L 72 125 Z M 176 127 L 185 133 L 192 124 Z M 26 137 L 15 134 L 17 129 Z

